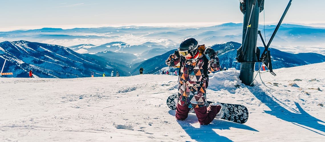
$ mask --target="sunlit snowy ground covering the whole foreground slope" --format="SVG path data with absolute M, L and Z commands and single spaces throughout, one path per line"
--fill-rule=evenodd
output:
M 234 69 L 210 74 L 208 100 L 250 113 L 245 124 L 207 126 L 195 114 L 177 121 L 166 107 L 173 75 L 0 78 L 0 141 L 323 141 L 324 70 L 325 62 L 262 73 L 269 88 L 259 76 L 254 87 L 241 84 Z

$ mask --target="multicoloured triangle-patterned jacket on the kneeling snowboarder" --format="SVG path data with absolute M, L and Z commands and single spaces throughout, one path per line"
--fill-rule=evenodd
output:
M 200 52 L 197 60 L 186 60 L 185 57 L 171 54 L 165 61 L 168 66 L 180 67 L 178 84 L 178 104 L 191 107 L 203 107 L 207 105 L 205 89 L 209 82 L 208 73 L 204 71 L 218 71 L 220 69 L 217 53 L 212 55 L 209 61 L 205 57 L 205 45 L 199 45 Z M 207 63 L 207 65 L 204 65 Z M 207 69 L 203 69 L 206 67 Z

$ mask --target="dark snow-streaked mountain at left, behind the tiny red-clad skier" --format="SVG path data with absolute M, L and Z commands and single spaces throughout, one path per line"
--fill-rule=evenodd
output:
M 29 41 L 5 41 L 0 43 L 0 62 L 7 60 L 4 72 L 13 72 L 14 77 L 28 77 L 32 70 L 35 77 L 77 78 L 96 76 L 102 72 L 116 71 L 115 63 L 94 60 L 69 48 Z M 122 76 L 129 75 L 120 72 Z

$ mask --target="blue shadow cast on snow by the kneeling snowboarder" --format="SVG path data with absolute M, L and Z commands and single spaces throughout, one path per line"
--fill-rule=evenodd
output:
M 169 110 L 168 112 L 170 115 L 175 116 L 175 110 Z M 176 119 L 176 118 L 175 118 Z M 177 120 L 178 124 L 183 128 L 183 130 L 188 134 L 191 139 L 194 139 L 195 141 L 225 141 L 229 142 L 232 141 L 227 137 L 218 135 L 213 129 L 230 129 L 230 127 L 233 128 L 240 128 L 240 129 L 246 129 L 251 131 L 256 131 L 254 128 L 251 128 L 249 126 L 243 125 L 243 124 L 237 124 L 234 122 L 228 122 L 226 120 L 218 120 L 214 119 L 212 123 L 209 125 L 200 125 L 200 128 L 195 128 L 191 124 L 198 123 L 198 118 L 194 114 L 189 114 L 188 118 L 184 121 Z

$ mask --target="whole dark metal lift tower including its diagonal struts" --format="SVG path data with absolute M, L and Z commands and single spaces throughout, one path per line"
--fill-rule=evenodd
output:
M 237 50 L 237 61 L 240 62 L 240 80 L 245 85 L 253 86 L 255 62 L 263 62 L 269 71 L 275 76 L 272 70 L 271 56 L 268 47 L 277 33 L 284 16 L 286 15 L 292 0 L 289 1 L 277 27 L 275 28 L 268 44 L 258 30 L 259 14 L 264 10 L 264 0 L 239 0 L 240 11 L 244 14 L 242 46 Z M 260 50 L 257 48 L 257 36 L 260 36 L 265 50 L 260 57 Z

